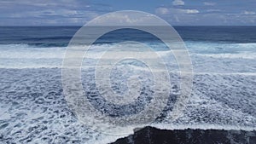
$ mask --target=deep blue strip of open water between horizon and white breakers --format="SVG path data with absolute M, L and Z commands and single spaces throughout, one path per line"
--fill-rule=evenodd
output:
M 0 44 L 29 44 L 42 47 L 67 46 L 80 26 L 0 26 Z M 256 43 L 256 26 L 174 26 L 184 41 L 216 43 Z M 97 43 L 115 43 L 137 36 L 155 38 L 145 32 L 124 29 L 102 37 Z

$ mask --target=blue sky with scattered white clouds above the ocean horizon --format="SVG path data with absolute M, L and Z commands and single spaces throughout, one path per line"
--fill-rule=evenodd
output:
M 83 26 L 118 10 L 155 14 L 172 26 L 256 26 L 256 0 L 0 0 L 0 26 Z

